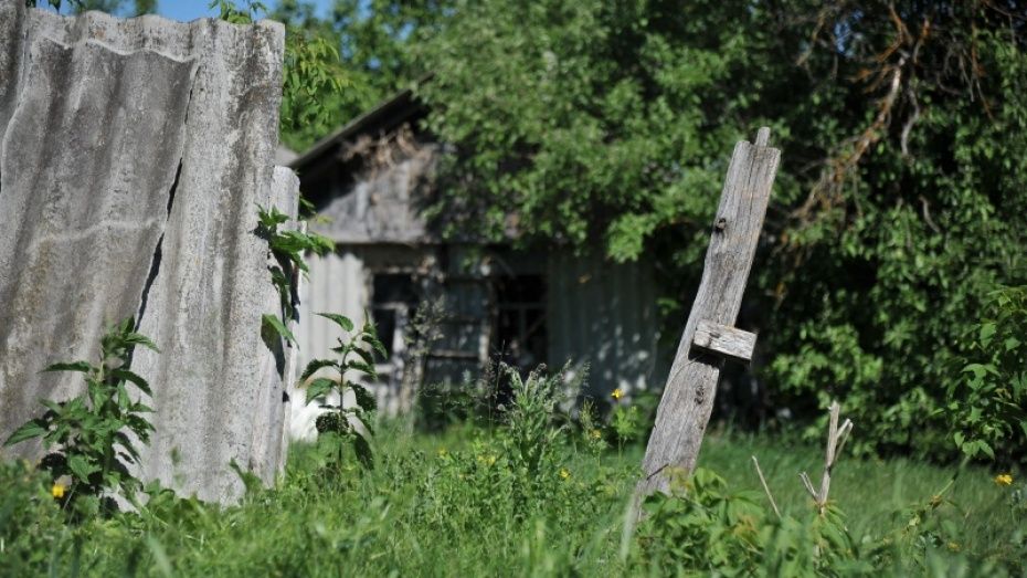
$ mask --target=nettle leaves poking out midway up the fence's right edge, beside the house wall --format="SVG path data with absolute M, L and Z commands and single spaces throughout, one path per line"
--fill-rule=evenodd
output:
M 325 255 L 335 250 L 335 243 L 331 239 L 317 233 L 307 233 L 297 229 L 285 229 L 280 227 L 288 222 L 289 218 L 277 209 L 272 207 L 267 210 L 257 206 L 258 224 L 256 234 L 267 241 L 267 249 L 271 256 L 275 259 L 275 264 L 267 269 L 271 271 L 271 282 L 278 290 L 278 315 L 264 314 L 261 317 L 262 329 L 267 335 L 277 334 L 280 338 L 295 344 L 296 337 L 289 330 L 288 325 L 297 318 L 296 304 L 296 277 L 300 273 L 306 274 L 309 269 L 304 254 L 311 252 L 316 255 Z

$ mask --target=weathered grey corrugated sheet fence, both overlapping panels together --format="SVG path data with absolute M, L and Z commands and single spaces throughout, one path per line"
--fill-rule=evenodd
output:
M 161 348 L 134 360 L 157 410 L 142 473 L 218 501 L 242 491 L 232 460 L 273 480 L 283 386 L 260 329 L 277 297 L 253 231 L 256 203 L 295 210 L 273 174 L 283 50 L 276 23 L 0 0 L 0 439 L 81 388 L 40 369 L 95 358 L 136 315 Z

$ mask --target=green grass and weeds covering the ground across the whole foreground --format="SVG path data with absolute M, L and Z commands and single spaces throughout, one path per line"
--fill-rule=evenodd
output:
M 0 504 L 15 506 L 13 517 L 0 511 L 0 530 L 18 559 L 0 558 L 0 574 L 1024 575 L 1020 472 L 849 458 L 820 516 L 797 479 L 822 463 L 820 450 L 767 437 L 712 432 L 705 469 L 681 480 L 684 492 L 647 502 L 632 527 L 640 445 L 613 451 L 612 425 L 594 410 L 572 423 L 559 409 L 561 374 L 502 375 L 512 395 L 494 427 L 425 435 L 384 423 L 373 470 L 350 454 L 338 463 L 326 445 L 339 439 L 295 448 L 279 487 L 254 487 L 233 507 L 157 492 L 138 514 L 55 528 L 39 485 L 18 485 L 34 497 L 13 502 L 3 486 Z

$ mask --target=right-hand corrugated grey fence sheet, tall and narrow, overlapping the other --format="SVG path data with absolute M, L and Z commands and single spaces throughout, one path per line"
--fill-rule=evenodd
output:
M 269 206 L 284 34 L 280 27 L 197 21 L 200 70 L 163 260 L 140 320 L 161 346 L 136 369 L 155 388 L 157 427 L 146 474 L 201 498 L 231 501 L 243 485 L 227 464 L 256 472 L 254 414 L 266 391 L 261 315 L 269 287 L 266 243 L 253 232 Z M 287 208 L 282 208 L 287 210 Z M 279 398 L 280 403 L 280 398 Z M 171 458 L 176 456 L 177 460 Z M 273 477 L 264 477 L 272 481 Z

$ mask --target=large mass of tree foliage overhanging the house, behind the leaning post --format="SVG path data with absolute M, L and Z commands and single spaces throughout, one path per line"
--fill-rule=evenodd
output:
M 462 239 L 516 230 L 656 263 L 676 339 L 731 147 L 770 126 L 783 161 L 742 322 L 772 329 L 755 368 L 770 406 L 807 422 L 844 398 L 861 452 L 951 458 L 939 410 L 959 344 L 991 286 L 1025 279 L 1019 12 L 458 2 L 414 54 L 435 73 L 427 127 L 452 145 L 431 217 Z

